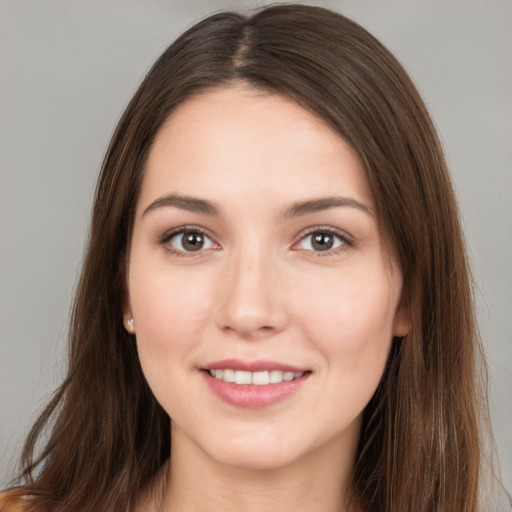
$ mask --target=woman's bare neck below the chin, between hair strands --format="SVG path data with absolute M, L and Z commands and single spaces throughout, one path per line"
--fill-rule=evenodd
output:
M 222 464 L 173 431 L 162 510 L 356 512 L 357 500 L 350 499 L 356 444 L 347 451 L 333 442 L 284 467 L 254 469 Z

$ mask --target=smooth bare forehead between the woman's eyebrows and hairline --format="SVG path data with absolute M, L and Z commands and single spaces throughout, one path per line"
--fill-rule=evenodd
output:
M 159 130 L 140 206 L 191 191 L 220 203 L 240 194 L 271 203 L 335 192 L 372 206 L 363 166 L 339 134 L 289 98 L 243 87 L 194 96 Z

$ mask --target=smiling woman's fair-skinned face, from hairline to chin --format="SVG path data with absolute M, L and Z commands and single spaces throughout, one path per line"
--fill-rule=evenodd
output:
M 182 104 L 150 151 L 125 322 L 174 443 L 270 468 L 354 449 L 401 276 L 351 147 L 279 95 Z

